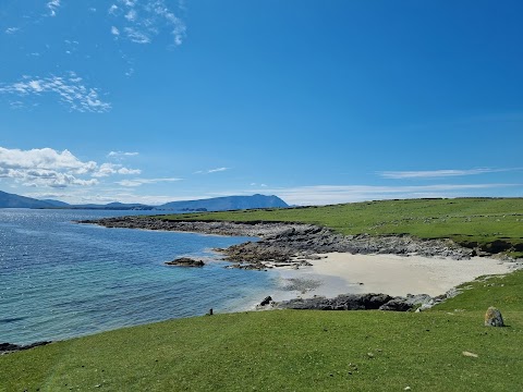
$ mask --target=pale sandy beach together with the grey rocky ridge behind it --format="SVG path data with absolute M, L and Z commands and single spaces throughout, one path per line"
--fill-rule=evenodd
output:
M 281 280 L 281 287 L 275 290 L 278 301 L 346 293 L 441 296 L 481 275 L 509 273 L 523 267 L 521 260 L 496 259 L 450 240 L 342 235 L 304 223 L 170 221 L 158 217 L 80 223 L 255 237 L 257 241 L 214 250 L 231 262 L 229 268 L 276 273 Z

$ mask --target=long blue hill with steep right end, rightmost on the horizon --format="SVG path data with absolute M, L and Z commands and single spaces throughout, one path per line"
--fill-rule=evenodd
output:
M 251 208 L 275 208 L 289 207 L 289 205 L 278 196 L 226 196 L 200 200 L 171 201 L 156 207 L 156 209 L 170 209 L 174 211 L 227 211 Z

